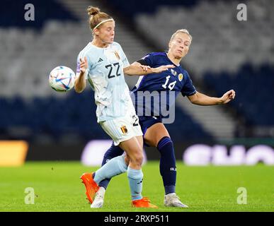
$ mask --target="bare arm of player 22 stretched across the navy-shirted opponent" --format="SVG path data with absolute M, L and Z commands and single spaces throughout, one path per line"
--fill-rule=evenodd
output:
M 130 66 L 124 68 L 124 73 L 128 76 L 145 76 L 149 73 L 161 73 L 162 71 L 166 71 L 174 68 L 174 65 L 163 65 L 157 68 L 151 68 L 150 66 L 139 64 L 138 62 L 134 62 Z

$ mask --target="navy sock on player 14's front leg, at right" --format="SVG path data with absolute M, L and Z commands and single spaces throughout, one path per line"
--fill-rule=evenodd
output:
M 164 182 L 165 194 L 175 193 L 176 159 L 171 138 L 168 136 L 161 138 L 157 149 L 161 153 L 160 173 Z

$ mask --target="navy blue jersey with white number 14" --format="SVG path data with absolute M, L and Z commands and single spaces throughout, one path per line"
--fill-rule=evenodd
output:
M 142 59 L 152 68 L 173 64 L 165 52 L 153 52 Z M 138 116 L 161 117 L 163 109 L 169 110 L 179 93 L 190 96 L 195 94 L 196 90 L 188 72 L 181 66 L 176 66 L 161 73 L 140 76 L 132 88 L 131 96 Z

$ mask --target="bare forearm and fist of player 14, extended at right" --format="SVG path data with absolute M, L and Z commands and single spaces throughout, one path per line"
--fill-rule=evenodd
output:
M 227 104 L 230 100 L 235 98 L 235 91 L 229 90 L 227 93 L 224 93 L 222 97 L 209 97 L 205 94 L 196 92 L 194 95 L 188 96 L 188 100 L 194 105 L 224 105 Z

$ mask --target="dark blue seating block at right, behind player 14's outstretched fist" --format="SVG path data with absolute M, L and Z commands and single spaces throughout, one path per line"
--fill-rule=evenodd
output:
M 232 102 L 239 115 L 244 115 L 247 125 L 274 126 L 273 85 L 274 67 L 269 64 L 245 64 L 236 73 L 205 73 L 205 84 L 222 94 L 223 88 L 233 87 L 237 97 Z

